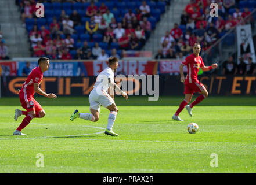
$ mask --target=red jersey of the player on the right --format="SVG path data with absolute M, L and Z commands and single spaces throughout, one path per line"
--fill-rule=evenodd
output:
M 197 73 L 199 71 L 199 68 L 204 67 L 202 57 L 196 57 L 195 54 L 190 54 L 190 56 L 185 58 L 182 64 L 186 65 L 188 68 L 188 75 L 186 76 L 185 84 L 199 82 L 199 80 L 197 79 Z

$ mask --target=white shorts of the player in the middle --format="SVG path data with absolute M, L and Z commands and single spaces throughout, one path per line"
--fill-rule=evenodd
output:
M 100 105 L 107 108 L 114 103 L 114 100 L 110 97 L 109 94 L 107 94 L 107 92 L 102 92 L 102 94 L 98 94 L 96 91 L 91 91 L 89 95 L 89 102 L 90 108 L 98 110 L 98 112 L 100 112 Z

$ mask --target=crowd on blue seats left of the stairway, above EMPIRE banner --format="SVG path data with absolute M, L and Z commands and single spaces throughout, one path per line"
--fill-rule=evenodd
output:
M 33 57 L 99 60 L 140 50 L 170 2 L 17 1 Z M 35 2 L 44 3 L 44 18 L 35 16 Z

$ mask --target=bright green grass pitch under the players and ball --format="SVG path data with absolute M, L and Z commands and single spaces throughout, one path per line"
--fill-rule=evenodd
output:
M 70 121 L 75 108 L 88 112 L 88 97 L 36 99 L 46 116 L 31 121 L 28 136 L 13 136 L 24 118 L 13 119 L 19 98 L 0 98 L 0 173 L 256 173 L 255 97 L 208 97 L 193 117 L 184 109 L 183 122 L 171 119 L 183 97 L 116 97 L 115 138 L 103 133 L 103 107 L 97 123 Z M 197 134 L 186 131 L 190 122 L 199 125 Z

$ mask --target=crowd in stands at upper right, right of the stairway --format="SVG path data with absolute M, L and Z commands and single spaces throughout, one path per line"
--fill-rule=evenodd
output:
M 210 16 L 212 2 L 218 4 L 218 17 Z M 161 48 L 155 58 L 185 58 L 192 53 L 196 42 L 201 44 L 202 51 L 206 51 L 236 25 L 253 24 L 253 16 L 244 20 L 253 10 L 253 7 L 244 6 L 247 3 L 239 0 L 190 0 L 181 14 L 180 24 L 175 23 L 174 28 L 161 38 Z M 256 1 L 251 3 L 256 8 Z

